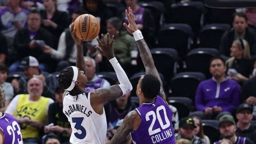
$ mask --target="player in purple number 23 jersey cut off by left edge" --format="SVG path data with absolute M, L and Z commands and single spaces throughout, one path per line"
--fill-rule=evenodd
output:
M 5 92 L 0 85 L 0 109 L 4 107 Z M 0 144 L 23 144 L 16 118 L 0 112 Z

